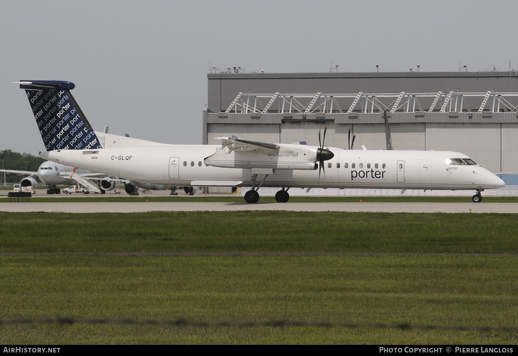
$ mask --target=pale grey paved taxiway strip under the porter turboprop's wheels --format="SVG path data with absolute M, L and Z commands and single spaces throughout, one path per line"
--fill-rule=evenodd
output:
M 338 211 L 386 213 L 518 213 L 517 203 L 218 203 L 218 202 L 84 202 L 0 203 L 4 212 L 135 213 L 149 211 Z

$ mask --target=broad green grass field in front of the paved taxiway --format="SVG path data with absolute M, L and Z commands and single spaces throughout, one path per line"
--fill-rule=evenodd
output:
M 0 221 L 0 320 L 78 321 L 0 324 L 3 344 L 518 339 L 515 214 L 0 213 Z M 209 326 L 84 322 L 179 318 Z M 215 325 L 277 320 L 301 326 Z

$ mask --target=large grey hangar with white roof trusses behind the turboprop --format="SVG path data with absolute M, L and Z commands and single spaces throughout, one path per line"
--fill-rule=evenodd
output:
M 518 170 L 518 71 L 210 73 L 204 143 L 250 140 L 467 154 L 493 172 Z

